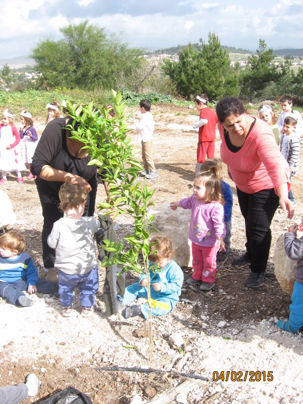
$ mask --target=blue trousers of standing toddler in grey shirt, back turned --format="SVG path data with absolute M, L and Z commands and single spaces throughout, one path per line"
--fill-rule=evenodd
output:
M 58 270 L 60 303 L 63 307 L 72 307 L 74 289 L 78 285 L 80 290 L 80 304 L 82 307 L 91 307 L 95 304 L 95 293 L 99 288 L 98 267 L 86 274 L 66 274 Z

